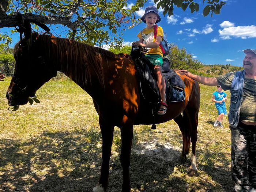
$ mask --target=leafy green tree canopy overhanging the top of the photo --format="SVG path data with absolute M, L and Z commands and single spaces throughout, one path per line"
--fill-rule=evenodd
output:
M 127 0 L 1 0 L 0 28 L 18 26 L 15 15 L 18 11 L 26 20 L 50 25 L 60 24 L 61 26 L 56 27 L 59 27 L 65 37 L 90 45 L 117 44 L 121 46 L 124 31 L 140 22 L 135 19 L 135 12 L 143 7 L 146 1 L 136 0 L 135 4 L 127 8 Z M 160 0 L 157 7 L 163 8 L 164 15 L 167 13 L 173 15 L 174 6 L 184 11 L 189 7 L 193 13 L 199 11 L 199 4 L 196 1 L 200 2 L 199 0 Z M 219 14 L 222 6 L 225 5 L 225 2 L 219 2 L 219 0 L 207 0 L 206 2 L 204 16 L 210 11 L 212 11 L 211 16 L 213 13 Z M 37 26 L 34 27 L 38 29 Z M 15 33 L 16 30 L 12 32 Z M 2 33 L 0 33 L 0 40 L 11 42 L 11 38 Z

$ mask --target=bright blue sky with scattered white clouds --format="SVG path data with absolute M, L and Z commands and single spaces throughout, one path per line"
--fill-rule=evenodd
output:
M 197 1 L 198 2 L 198 1 Z M 163 16 L 161 8 L 158 10 L 162 18 L 159 26 L 167 33 L 169 43 L 185 48 L 188 53 L 203 64 L 224 64 L 242 66 L 244 49 L 256 49 L 256 0 L 225 0 L 220 15 L 203 17 L 203 1 L 199 1 L 200 9 L 191 14 L 189 8 L 183 12 L 174 7 L 174 15 Z M 134 3 L 128 1 L 127 7 Z M 148 0 L 140 11 L 138 18 L 144 14 L 148 5 L 154 5 Z M 123 38 L 126 44 L 136 41 L 136 35 L 146 24 L 141 23 L 133 29 L 127 30 Z

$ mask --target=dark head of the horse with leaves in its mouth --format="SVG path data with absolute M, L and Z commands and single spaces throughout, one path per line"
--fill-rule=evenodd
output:
M 26 104 L 29 97 L 33 97 L 45 82 L 57 74 L 49 65 L 51 61 L 46 56 L 49 50 L 44 50 L 48 48 L 38 41 L 38 36 L 31 34 L 15 45 L 15 72 L 6 93 L 10 106 Z

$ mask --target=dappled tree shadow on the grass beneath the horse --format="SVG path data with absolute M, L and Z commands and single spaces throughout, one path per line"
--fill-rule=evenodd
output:
M 27 141 L 2 139 L 0 146 L 0 187 L 3 191 L 91 192 L 97 185 L 101 166 L 101 135 L 93 129 L 45 131 Z M 211 163 L 199 164 L 201 172 L 206 172 L 213 181 L 199 175 L 196 183 L 188 186 L 188 179 L 191 178 L 187 176 L 190 159 L 181 163 L 178 161 L 180 151 L 165 146 L 157 147 L 161 150 L 157 153 L 152 150 L 151 155 L 138 153 L 140 146 L 132 150 L 130 174 L 133 190 L 231 191 L 230 173 L 224 168 L 229 162 L 221 158 L 221 154 L 215 155 L 221 158 L 218 161 L 224 162 L 223 167 L 214 167 Z M 199 153 L 204 154 L 206 162 L 212 157 L 207 151 Z M 122 168 L 119 156 L 110 160 L 109 192 L 121 191 Z M 216 183 L 223 187 L 216 187 Z

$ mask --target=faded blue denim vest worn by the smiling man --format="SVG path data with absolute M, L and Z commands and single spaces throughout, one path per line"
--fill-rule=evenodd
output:
M 230 86 L 230 107 L 229 107 L 229 124 L 236 128 L 240 117 L 240 107 L 244 95 L 244 76 L 245 70 L 237 71 Z

